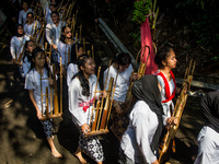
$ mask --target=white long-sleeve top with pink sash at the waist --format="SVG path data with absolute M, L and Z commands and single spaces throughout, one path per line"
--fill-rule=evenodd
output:
M 89 97 L 82 95 L 82 87 L 78 78 L 74 78 L 72 80 L 71 85 L 69 87 L 69 110 L 72 115 L 73 122 L 79 128 L 84 124 L 90 125 L 92 107 L 93 107 L 92 102 L 94 101 L 96 80 L 97 79 L 95 74 L 92 74 L 89 78 L 89 85 L 91 93 Z M 88 107 L 87 112 L 83 110 L 83 107 L 85 106 L 90 106 Z

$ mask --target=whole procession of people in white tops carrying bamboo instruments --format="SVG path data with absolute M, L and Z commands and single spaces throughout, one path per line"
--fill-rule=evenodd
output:
M 69 2 L 69 1 L 68 1 Z M 173 117 L 173 98 L 177 93 L 172 69 L 176 68 L 176 57 L 171 46 L 159 48 L 154 58 L 159 70 L 155 74 L 140 77 L 134 70 L 131 58 L 127 52 L 115 56 L 113 62 L 104 71 L 101 79 L 104 87 L 99 84 L 95 75 L 96 65 L 83 46 L 81 39 L 73 37 L 72 25 L 68 21 L 65 1 L 56 0 L 39 2 L 10 0 L 5 5 L 15 8 L 7 13 L 9 25 L 14 36 L 10 42 L 10 52 L 16 66 L 14 80 L 24 83 L 30 98 L 36 109 L 46 139 L 55 157 L 62 157 L 56 149 L 53 137 L 53 119 L 42 120 L 46 106 L 54 108 L 54 99 L 42 98 L 55 92 L 56 79 L 64 74 L 64 87 L 67 87 L 68 109 L 72 121 L 79 130 L 78 149 L 74 155 L 82 164 L 87 161 L 83 153 L 101 164 L 104 151 L 97 136 L 88 137 L 94 99 L 106 97 L 110 79 L 116 80 L 112 99 L 110 131 L 119 142 L 120 164 L 158 164 L 159 143 L 163 129 L 178 124 Z M 34 9 L 32 9 L 32 7 Z M 5 9 L 5 8 L 4 8 Z M 66 10 L 68 11 L 68 10 Z M 51 67 L 51 66 L 55 67 Z M 61 72 L 60 72 L 60 69 Z M 97 84 L 97 85 L 96 85 Z M 131 86 L 134 102 L 128 110 L 126 95 Z M 103 91 L 97 92 L 96 91 Z M 51 97 L 49 97 L 51 98 Z M 211 92 L 201 101 L 201 109 L 207 124 L 198 136 L 199 152 L 195 163 L 212 163 L 218 160 L 219 136 L 219 92 Z

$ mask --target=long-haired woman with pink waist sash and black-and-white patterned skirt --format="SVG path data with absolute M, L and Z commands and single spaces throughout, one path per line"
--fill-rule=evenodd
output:
M 96 136 L 85 137 L 90 131 L 92 106 L 94 98 L 100 98 L 102 94 L 94 94 L 97 87 L 97 79 L 95 73 L 95 62 L 87 55 L 78 58 L 79 72 L 73 77 L 69 87 L 69 110 L 72 120 L 80 131 L 79 147 L 76 156 L 82 164 L 87 161 L 82 153 L 92 157 L 97 164 L 102 164 L 104 160 L 103 149 Z M 95 97 L 94 97 L 95 96 Z

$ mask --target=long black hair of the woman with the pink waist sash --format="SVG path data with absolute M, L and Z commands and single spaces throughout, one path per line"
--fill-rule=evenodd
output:
M 81 66 L 84 67 L 87 60 L 91 58 L 90 56 L 88 55 L 81 55 L 79 58 L 78 58 L 78 68 L 79 68 L 79 72 L 76 73 L 73 75 L 72 79 L 74 79 L 76 77 L 79 78 L 79 81 L 81 83 L 81 87 L 82 87 L 82 95 L 84 96 L 90 96 L 90 86 L 89 86 L 89 81 L 85 79 L 85 77 L 83 75 L 83 71 L 81 70 Z

